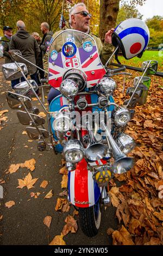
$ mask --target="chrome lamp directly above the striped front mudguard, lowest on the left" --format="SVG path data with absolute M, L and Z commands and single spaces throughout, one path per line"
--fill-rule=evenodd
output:
M 78 163 L 84 157 L 82 143 L 78 139 L 70 139 L 63 149 L 63 155 L 67 162 Z

